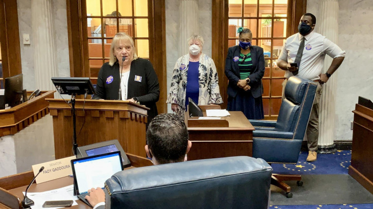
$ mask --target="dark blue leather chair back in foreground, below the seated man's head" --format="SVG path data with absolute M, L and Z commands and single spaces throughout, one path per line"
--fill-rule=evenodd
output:
M 267 209 L 272 167 L 247 156 L 134 168 L 105 182 L 111 209 Z

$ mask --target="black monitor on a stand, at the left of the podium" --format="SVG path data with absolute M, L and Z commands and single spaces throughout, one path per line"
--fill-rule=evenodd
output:
M 53 85 L 65 95 L 92 95 L 94 89 L 90 78 L 52 77 Z

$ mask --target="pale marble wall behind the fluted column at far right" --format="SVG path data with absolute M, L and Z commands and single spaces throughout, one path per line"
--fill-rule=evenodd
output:
M 307 0 L 307 12 L 317 18 L 319 4 L 320 0 Z M 352 140 L 352 110 L 358 97 L 373 100 L 372 9 L 373 1 L 339 0 L 338 45 L 346 51 L 346 58 L 336 71 L 336 105 L 332 110 L 335 112 L 334 140 Z

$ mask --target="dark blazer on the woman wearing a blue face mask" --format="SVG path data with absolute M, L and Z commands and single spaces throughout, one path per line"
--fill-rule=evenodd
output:
M 229 97 L 236 97 L 237 92 L 241 89 L 237 86 L 238 80 L 240 80 L 240 69 L 238 68 L 238 58 L 240 57 L 240 46 L 232 46 L 228 49 L 227 59 L 225 60 L 225 75 L 227 76 L 228 90 L 227 94 Z M 263 94 L 262 78 L 264 76 L 264 55 L 263 48 L 259 46 L 250 46 L 251 59 L 253 61 L 253 73 L 249 76 L 251 87 L 251 94 L 254 98 L 258 98 Z M 237 61 L 234 59 L 237 57 Z

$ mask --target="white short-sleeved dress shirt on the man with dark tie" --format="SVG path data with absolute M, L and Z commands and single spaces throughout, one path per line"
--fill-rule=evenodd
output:
M 282 46 L 279 60 L 293 63 L 302 38 L 303 36 L 299 33 L 295 33 L 288 37 Z M 322 73 L 325 54 L 333 59 L 344 57 L 346 54 L 346 52 L 339 48 L 335 43 L 319 33 L 312 31 L 304 36 L 304 38 L 303 55 L 298 66 L 299 72 L 297 76 L 299 77 L 312 81 L 320 79 L 319 75 Z M 291 72 L 285 72 L 286 78 L 291 76 L 293 76 Z

